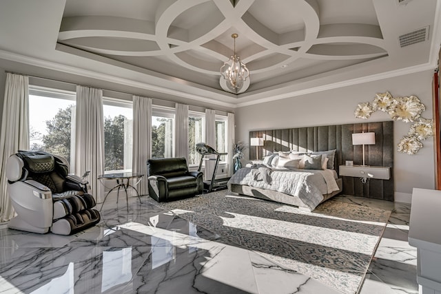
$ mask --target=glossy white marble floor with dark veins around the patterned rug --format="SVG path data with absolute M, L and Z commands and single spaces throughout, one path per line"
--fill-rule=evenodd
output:
M 410 205 L 336 199 L 392 211 L 360 293 L 418 293 Z M 0 293 L 340 293 L 146 201 L 129 206 L 107 200 L 96 227 L 70 236 L 0 224 Z

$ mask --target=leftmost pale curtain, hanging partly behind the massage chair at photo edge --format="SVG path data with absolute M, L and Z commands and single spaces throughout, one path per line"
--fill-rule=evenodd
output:
M 7 188 L 6 161 L 19 149 L 29 149 L 29 78 L 7 73 L 0 136 L 0 222 L 14 217 Z

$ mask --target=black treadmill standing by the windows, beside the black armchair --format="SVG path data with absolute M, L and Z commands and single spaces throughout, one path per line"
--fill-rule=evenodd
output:
M 203 160 L 216 160 L 216 165 L 214 165 L 212 180 L 204 180 L 204 193 L 227 189 L 227 182 L 229 178 L 216 179 L 216 172 L 218 170 L 220 156 L 227 155 L 227 153 L 226 152 L 220 153 L 216 151 L 213 147 L 205 143 L 196 144 L 196 151 L 198 152 L 198 154 L 202 155 L 201 162 L 199 163 L 198 171 L 201 171 L 202 169 Z M 205 158 L 205 156 L 212 154 L 214 154 L 216 158 Z

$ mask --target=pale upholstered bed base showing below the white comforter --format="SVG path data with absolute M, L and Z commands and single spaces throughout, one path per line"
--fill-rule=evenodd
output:
M 334 191 L 332 193 L 323 195 L 323 200 L 321 202 L 324 202 L 324 201 L 328 200 L 329 198 L 336 196 L 338 193 L 340 193 L 342 191 L 342 187 L 343 187 L 342 179 L 338 178 L 338 179 L 336 179 L 336 182 L 337 182 L 337 185 L 339 188 L 338 191 Z M 305 205 L 302 202 L 302 200 L 300 200 L 300 198 L 298 198 L 297 196 L 291 196 L 291 195 L 285 194 L 283 192 L 261 189 L 261 188 L 247 186 L 247 185 L 236 185 L 236 184 L 231 185 L 231 191 L 235 192 L 235 193 L 247 195 L 247 196 L 253 196 L 256 198 L 263 199 L 263 200 L 271 200 L 271 201 L 276 201 L 276 202 L 280 202 L 280 203 L 284 203 L 284 204 L 294 205 L 303 211 L 311 211 L 311 209 L 309 207 L 307 207 L 307 205 Z

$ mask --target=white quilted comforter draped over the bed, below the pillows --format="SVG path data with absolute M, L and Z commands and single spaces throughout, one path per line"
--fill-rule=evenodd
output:
M 335 171 L 331 169 L 280 170 L 243 167 L 236 171 L 227 185 L 229 189 L 231 185 L 247 185 L 283 192 L 297 196 L 307 207 L 314 209 L 322 202 L 324 194 L 339 190 L 335 175 Z

